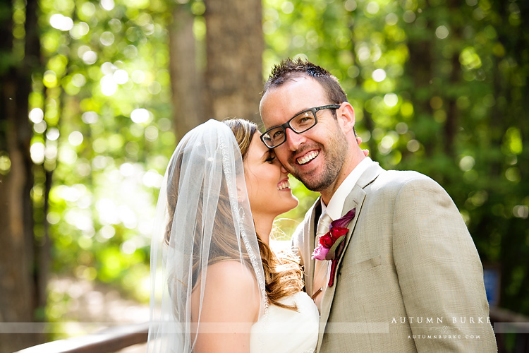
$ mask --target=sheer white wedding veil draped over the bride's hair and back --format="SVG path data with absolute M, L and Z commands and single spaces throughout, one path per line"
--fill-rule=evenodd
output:
M 241 151 L 226 124 L 209 120 L 178 143 L 159 192 L 147 352 L 193 351 L 200 314 L 192 323 L 191 294 L 200 288 L 200 313 L 207 267 L 226 260 L 240 261 L 255 274 L 264 313 L 265 275 Z

